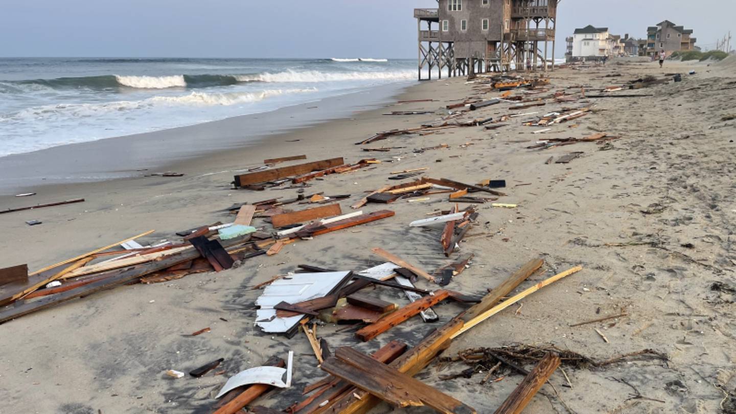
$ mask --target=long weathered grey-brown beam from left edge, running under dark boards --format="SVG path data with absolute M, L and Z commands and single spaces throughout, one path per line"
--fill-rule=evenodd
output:
M 225 247 L 234 246 L 247 240 L 246 238 L 231 239 L 224 242 Z M 91 284 L 79 289 L 69 290 L 68 292 L 61 292 L 57 295 L 51 295 L 46 298 L 38 299 L 38 301 L 28 301 L 24 303 L 16 303 L 11 306 L 7 306 L 0 310 L 0 323 L 7 322 L 8 320 L 15 319 L 28 315 L 29 313 L 46 309 L 50 306 L 57 304 L 63 304 L 67 301 L 72 301 L 77 298 L 83 298 L 93 293 L 107 290 L 112 287 L 118 287 L 122 284 L 127 284 L 142 276 L 146 276 L 149 273 L 158 272 L 164 270 L 175 264 L 188 262 L 189 260 L 197 259 L 199 252 L 194 249 L 183 250 L 180 253 L 166 256 L 163 259 L 155 260 L 144 264 L 138 264 L 136 266 L 127 267 L 124 269 L 110 270 L 109 272 L 100 273 L 99 280 L 94 281 Z M 87 259 L 87 258 L 85 258 Z M 105 276 L 105 277 L 103 277 Z M 47 282 L 48 283 L 48 282 Z

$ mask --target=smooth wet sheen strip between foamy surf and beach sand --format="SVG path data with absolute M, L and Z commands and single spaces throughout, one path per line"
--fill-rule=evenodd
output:
M 190 162 L 197 164 L 197 158 L 262 145 L 270 136 L 380 108 L 414 85 L 377 85 L 276 110 L 7 155 L 0 158 L 0 202 L 5 195 L 47 186 L 141 178 L 182 169 Z M 356 102 L 344 105 L 353 99 Z

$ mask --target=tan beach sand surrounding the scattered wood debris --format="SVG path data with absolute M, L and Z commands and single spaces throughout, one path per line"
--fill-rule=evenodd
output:
M 586 99 L 548 103 L 548 113 L 563 107 L 595 104 L 594 113 L 576 120 L 577 127 L 553 126 L 534 135 L 513 119 L 508 127 L 448 129 L 425 136 L 398 136 L 371 147 L 406 147 L 387 153 L 363 152 L 355 141 L 378 130 L 414 127 L 446 115 L 448 102 L 478 95 L 473 84 L 456 78 L 422 83 L 399 99 L 428 99 L 390 105 L 314 127 L 271 136 L 244 150 L 231 150 L 175 166 L 183 178 L 138 178 L 105 183 L 47 186 L 32 198 L 0 198 L 3 206 L 44 203 L 85 197 L 87 202 L 0 216 L 4 230 L 0 263 L 29 263 L 32 269 L 107 245 L 151 228 L 141 242 L 170 238 L 175 231 L 216 220 L 233 203 L 270 197 L 293 197 L 293 189 L 265 192 L 233 190 L 233 174 L 262 163 L 263 158 L 306 154 L 309 160 L 344 156 L 347 161 L 377 156 L 376 166 L 311 181 L 308 192 L 352 194 L 344 210 L 364 192 L 387 183 L 389 172 L 428 167 L 427 175 L 464 182 L 506 179 L 502 203 L 518 208 L 480 206 L 481 216 L 461 245 L 475 253 L 470 268 L 449 287 L 483 294 L 529 259 L 542 257 L 550 276 L 576 264 L 584 270 L 545 288 L 459 337 L 444 356 L 466 348 L 512 343 L 556 345 L 588 357 L 607 359 L 653 348 L 668 362 L 631 362 L 605 370 L 565 370 L 551 378 L 562 401 L 575 413 L 718 413 L 726 393 L 736 393 L 735 295 L 712 291 L 715 281 L 736 287 L 736 203 L 732 181 L 736 169 L 736 71 L 731 63 L 668 61 L 609 62 L 605 67 L 559 69 L 551 89 L 570 91 L 620 84 L 645 75 L 695 69 L 682 83 L 641 89 L 654 97 Z M 620 77 L 605 77 L 621 74 Z M 498 93 L 481 95 L 497 97 Z M 508 113 L 506 104 L 467 116 L 487 118 Z M 382 116 L 386 110 L 430 109 L 421 116 Z M 530 116 L 529 118 L 534 118 Z M 525 147 L 544 138 L 582 137 L 596 131 L 621 138 L 604 147 L 581 143 L 551 150 Z M 216 139 L 216 135 L 213 135 Z M 291 142 L 294 139 L 299 141 Z M 444 150 L 414 153 L 420 147 L 448 144 Z M 470 144 L 470 145 L 463 145 Z M 545 164 L 550 156 L 584 151 L 570 164 Z M 377 155 L 378 154 L 378 155 Z M 387 162 L 393 161 L 393 162 Z M 524 185 L 522 185 L 524 184 Z M 526 185 L 528 184 L 528 185 Z M 43 190 L 43 191 L 41 191 Z M 261 291 L 250 287 L 307 263 L 342 270 L 360 270 L 381 263 L 370 253 L 380 246 L 430 272 L 449 259 L 441 253 L 438 228 L 408 228 L 408 222 L 447 209 L 445 194 L 431 200 L 389 205 L 396 216 L 351 230 L 287 245 L 276 256 L 250 259 L 237 269 L 206 273 L 154 285 L 132 285 L 102 292 L 0 326 L 0 413 L 205 413 L 227 376 L 261 365 L 272 356 L 295 351 L 294 387 L 258 400 L 283 409 L 300 399 L 302 386 L 321 377 L 303 335 L 291 339 L 262 334 L 253 326 L 253 302 Z M 386 208 L 369 204 L 364 211 Z M 29 227 L 25 220 L 43 225 Z M 261 221 L 257 225 L 264 224 Z M 420 287 L 430 287 L 418 281 Z M 523 287 L 527 287 L 524 284 Z M 378 289 L 383 298 L 406 304 L 396 292 Z M 463 308 L 435 307 L 441 322 Z M 615 315 L 604 323 L 570 327 L 572 323 Z M 223 318 L 226 321 L 221 320 Z M 187 337 L 209 326 L 211 332 Z M 417 343 L 439 326 L 418 317 L 358 344 L 352 331 L 319 332 L 332 348 L 353 345 L 374 351 L 392 339 Z M 609 343 L 594 329 L 605 334 Z M 170 379 L 173 368 L 188 371 L 224 357 L 227 373 L 202 379 Z M 442 381 L 439 376 L 467 368 L 459 363 L 438 371 L 430 365 L 417 378 L 475 407 L 492 413 L 522 378 L 507 373 L 499 381 L 479 385 L 483 374 Z M 617 379 L 629 382 L 634 389 Z M 525 413 L 566 413 L 550 385 L 542 388 Z M 99 410 L 99 411 L 98 411 Z M 372 413 L 430 413 L 392 410 L 386 404 Z

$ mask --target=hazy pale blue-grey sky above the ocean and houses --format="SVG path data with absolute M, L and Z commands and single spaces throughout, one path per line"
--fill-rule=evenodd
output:
M 436 0 L 2 0 L 0 56 L 416 58 L 414 7 Z M 665 19 L 713 49 L 734 16 L 733 0 L 561 0 L 556 55 L 576 27 L 643 38 Z

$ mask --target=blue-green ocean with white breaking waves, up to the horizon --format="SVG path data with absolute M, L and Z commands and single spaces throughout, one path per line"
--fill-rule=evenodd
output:
M 411 83 L 415 60 L 0 58 L 0 157 Z

